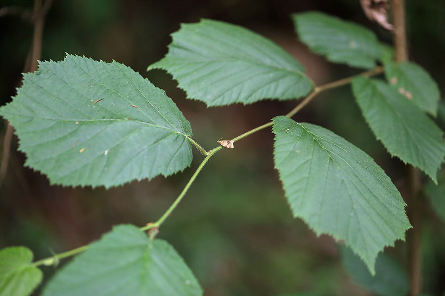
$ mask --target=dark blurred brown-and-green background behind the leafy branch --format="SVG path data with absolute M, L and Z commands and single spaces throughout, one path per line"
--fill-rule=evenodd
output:
M 0 18 L 0 105 L 20 86 L 33 27 L 23 17 L 32 0 L 1 0 L 15 15 Z M 116 60 L 165 89 L 190 121 L 194 139 L 211 149 L 285 114 L 296 101 L 263 101 L 207 109 L 185 99 L 163 71 L 146 72 L 167 53 L 180 23 L 211 18 L 245 26 L 293 54 L 319 85 L 358 73 L 327 63 L 298 42 L 289 15 L 321 10 L 369 27 L 380 40 L 391 35 L 368 21 L 358 0 L 54 0 L 45 22 L 42 60 L 63 60 L 65 52 L 94 60 Z M 445 1 L 406 0 L 410 59 L 422 65 L 445 91 Z M 445 104 L 437 122 L 445 129 Z M 350 87 L 318 96 L 294 116 L 331 129 L 365 152 L 387 172 L 402 195 L 406 167 L 391 158 L 364 123 Z M 5 122 L 0 123 L 2 144 Z M 336 244 L 316 237 L 292 218 L 272 160 L 273 136 L 256 133 L 224 149 L 206 165 L 158 237 L 168 240 L 194 271 L 206 296 L 369 295 L 341 268 Z M 178 196 L 203 156 L 195 150 L 190 168 L 175 176 L 121 187 L 51 186 L 45 176 L 23 167 L 25 155 L 13 139 L 9 170 L 0 189 L 0 247 L 24 245 L 36 259 L 91 242 L 119 223 L 156 221 Z M 424 290 L 445 290 L 445 227 L 428 201 L 423 211 Z M 389 251 L 403 261 L 402 242 Z M 61 262 L 61 265 L 64 264 Z M 53 267 L 44 267 L 47 280 Z M 37 294 L 39 291 L 37 292 Z

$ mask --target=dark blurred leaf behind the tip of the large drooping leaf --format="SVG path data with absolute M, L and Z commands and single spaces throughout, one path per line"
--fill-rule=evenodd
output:
M 375 262 L 372 276 L 350 248 L 341 247 L 342 262 L 349 276 L 366 290 L 381 296 L 405 296 L 409 292 L 406 271 L 392 257 L 380 253 Z

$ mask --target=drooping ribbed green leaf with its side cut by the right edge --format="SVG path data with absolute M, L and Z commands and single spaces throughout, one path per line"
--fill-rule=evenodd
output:
M 420 168 L 437 184 L 445 157 L 443 131 L 410 100 L 380 80 L 356 77 L 353 92 L 363 116 L 393 156 Z

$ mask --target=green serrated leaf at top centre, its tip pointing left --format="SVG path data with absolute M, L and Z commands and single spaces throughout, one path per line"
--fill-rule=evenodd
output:
M 203 19 L 172 34 L 168 54 L 147 70 L 164 69 L 187 98 L 207 106 L 305 96 L 304 67 L 281 47 L 248 29 Z

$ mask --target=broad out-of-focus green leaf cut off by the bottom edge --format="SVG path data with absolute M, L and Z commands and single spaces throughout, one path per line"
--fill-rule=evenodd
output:
M 203 292 L 166 241 L 150 241 L 133 225 L 118 225 L 56 273 L 44 296 L 199 296 Z

